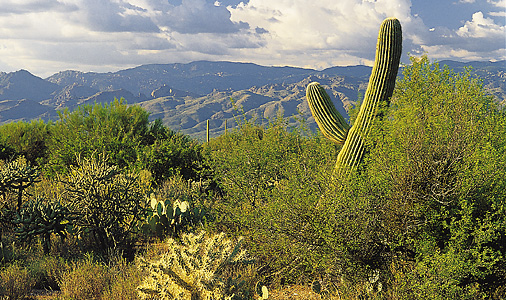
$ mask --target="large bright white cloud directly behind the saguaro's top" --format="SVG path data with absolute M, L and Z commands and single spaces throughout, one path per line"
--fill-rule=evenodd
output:
M 232 20 L 268 32 L 267 48 L 279 55 L 270 63 L 280 64 L 295 56 L 325 66 L 342 64 L 343 57 L 351 64 L 370 61 L 383 19 L 395 16 L 407 28 L 416 22 L 406 0 L 251 0 L 229 9 Z

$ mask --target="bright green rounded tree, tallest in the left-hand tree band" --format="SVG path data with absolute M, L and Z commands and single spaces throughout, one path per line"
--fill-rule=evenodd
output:
M 56 172 L 76 165 L 76 155 L 107 153 L 121 168 L 137 161 L 137 151 L 149 135 L 149 113 L 115 99 L 110 104 L 79 106 L 60 113 L 52 129 L 49 166 Z

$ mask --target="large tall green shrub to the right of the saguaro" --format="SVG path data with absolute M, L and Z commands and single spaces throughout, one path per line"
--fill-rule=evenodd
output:
M 506 284 L 505 111 L 469 70 L 412 63 L 377 125 L 361 194 L 381 212 L 382 244 L 413 253 L 411 292 L 490 296 Z

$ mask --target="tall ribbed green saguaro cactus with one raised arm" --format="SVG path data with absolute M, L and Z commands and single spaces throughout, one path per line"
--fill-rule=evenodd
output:
M 364 101 L 353 127 L 339 114 L 319 83 L 310 83 L 306 97 L 316 123 L 332 141 L 343 144 L 334 168 L 336 176 L 347 176 L 362 160 L 365 141 L 380 105 L 388 106 L 395 87 L 402 52 L 402 29 L 395 18 L 383 21 L 378 35 L 376 59 Z

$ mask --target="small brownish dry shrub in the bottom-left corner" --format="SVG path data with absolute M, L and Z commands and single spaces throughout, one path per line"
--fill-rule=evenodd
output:
M 17 262 L 1 270 L 0 280 L 1 294 L 12 300 L 27 298 L 35 285 L 30 272 Z

